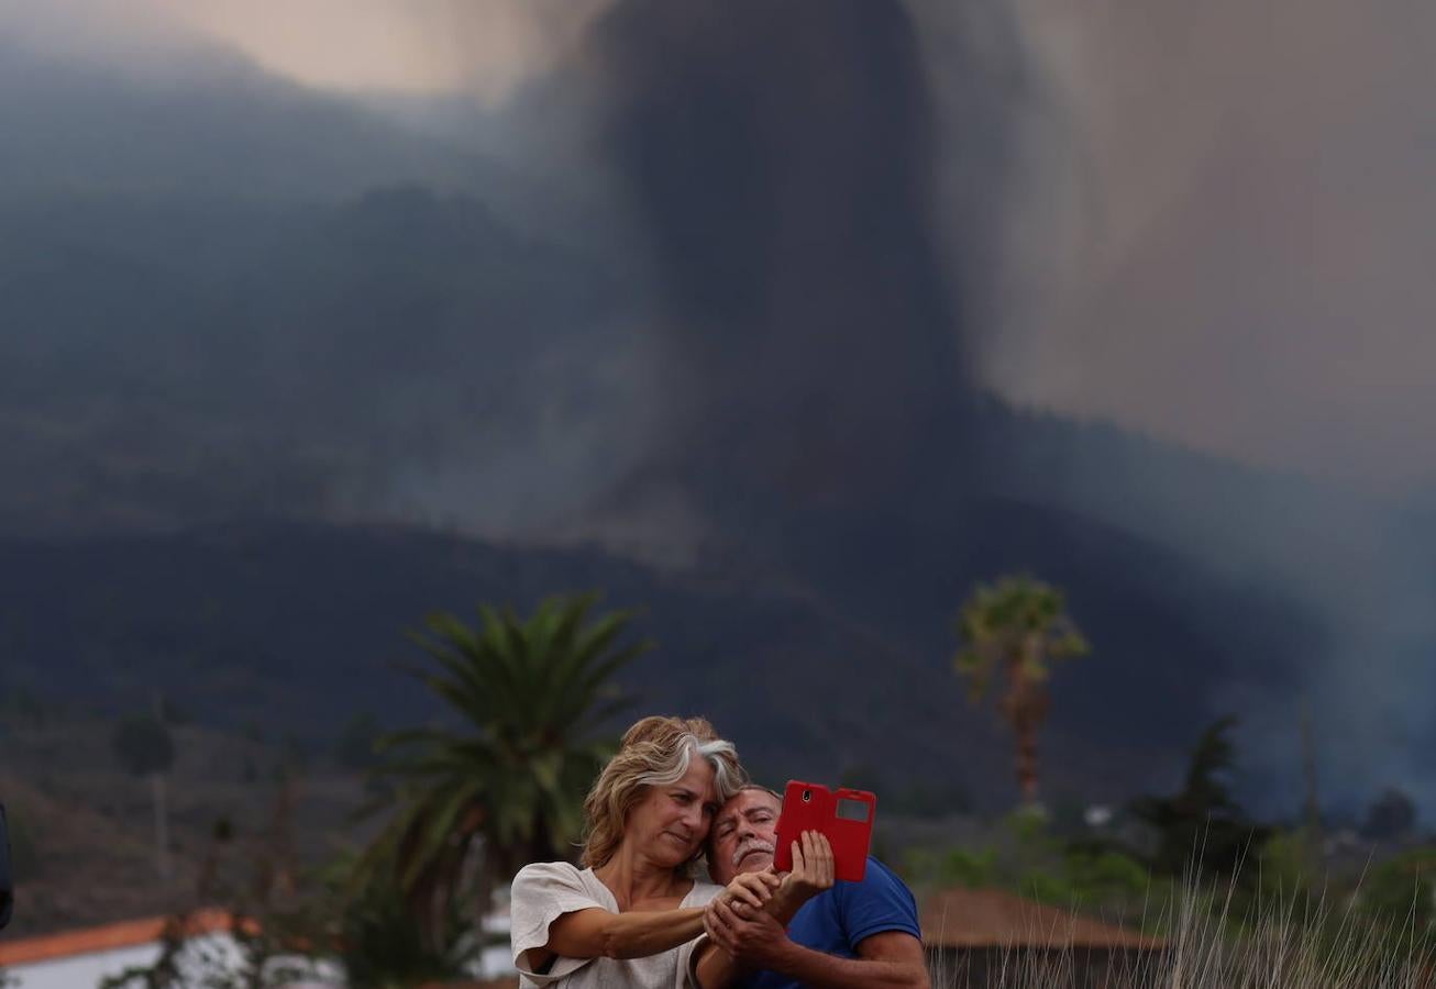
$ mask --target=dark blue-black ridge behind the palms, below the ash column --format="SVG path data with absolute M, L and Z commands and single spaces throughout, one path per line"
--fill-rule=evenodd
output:
M 1300 645 L 1279 611 L 1235 599 L 1169 554 L 1078 520 L 1044 531 L 1043 515 L 1020 505 L 989 512 L 989 533 L 1025 531 L 1071 560 L 1048 576 L 1073 589 L 1073 611 L 1097 647 L 1054 683 L 1054 789 L 1116 798 L 1165 781 L 1209 713 L 1203 692 L 1238 670 L 1279 676 L 1281 657 Z M 1083 540 L 1088 551 L 1068 553 Z M 962 702 L 946 620 L 965 587 L 1022 553 L 1021 543 L 976 540 L 941 586 L 910 580 L 906 620 L 932 610 L 931 627 L 916 627 L 885 624 L 875 620 L 880 607 L 864 614 L 778 574 L 685 576 L 596 550 L 398 527 L 254 522 L 11 540 L 0 547 L 4 680 L 112 711 L 162 688 L 200 723 L 253 723 L 325 744 L 363 711 L 389 725 L 435 713 L 395 670 L 418 657 L 404 630 L 425 613 L 600 589 L 607 604 L 639 609 L 638 632 L 659 643 L 623 676 L 635 712 L 705 712 L 765 777 L 864 767 L 895 787 L 955 782 L 1001 805 L 1011 795 L 1010 744 L 989 711 Z M 1213 607 L 1236 620 L 1221 637 L 1196 617 Z M 1265 622 L 1244 622 L 1241 607 Z M 1231 632 L 1244 627 L 1254 629 L 1245 639 Z M 1159 647 L 1163 662 L 1153 662 Z M 1248 652 L 1268 666 L 1242 669 Z

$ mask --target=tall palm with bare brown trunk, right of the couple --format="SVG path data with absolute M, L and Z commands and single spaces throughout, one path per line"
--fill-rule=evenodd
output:
M 1047 678 L 1055 660 L 1090 650 L 1064 610 L 1063 593 L 1031 577 L 1004 577 L 978 586 L 956 620 L 954 665 L 968 680 L 968 698 L 979 703 L 1001 670 L 1005 692 L 999 709 L 1017 735 L 1017 782 L 1024 802 L 1037 802 L 1037 731 L 1047 718 Z

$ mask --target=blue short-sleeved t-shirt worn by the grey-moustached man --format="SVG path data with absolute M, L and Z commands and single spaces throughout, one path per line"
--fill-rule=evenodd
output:
M 833 889 L 804 903 L 788 924 L 788 937 L 814 952 L 857 957 L 857 943 L 885 930 L 900 930 L 922 940 L 912 891 L 886 866 L 869 858 L 862 883 L 839 880 Z M 798 985 L 777 972 L 755 972 L 742 982 L 747 989 L 796 989 Z

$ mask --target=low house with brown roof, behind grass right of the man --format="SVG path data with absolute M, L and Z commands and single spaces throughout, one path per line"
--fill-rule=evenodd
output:
M 1020 985 L 1096 989 L 1149 970 L 1166 952 L 1159 939 L 1004 890 L 926 896 L 922 937 L 943 986 L 987 986 L 1005 969 L 1024 976 Z

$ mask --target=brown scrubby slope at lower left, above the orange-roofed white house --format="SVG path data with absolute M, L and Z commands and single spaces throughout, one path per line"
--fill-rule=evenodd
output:
M 279 736 L 246 738 L 198 725 L 172 729 L 168 777 L 171 877 L 157 878 L 154 804 L 148 779 L 128 775 L 111 748 L 113 722 L 78 705 L 42 716 L 0 716 L 0 800 L 14 850 L 17 909 L 7 936 L 108 923 L 188 909 L 200 899 L 205 860 L 215 889 L 248 896 L 261 863 L 287 834 L 293 863 L 314 864 L 368 825 L 349 821 L 360 781 L 325 754 L 290 769 L 287 827 L 279 825 Z M 218 821 L 233 840 L 214 841 Z

